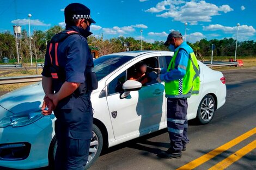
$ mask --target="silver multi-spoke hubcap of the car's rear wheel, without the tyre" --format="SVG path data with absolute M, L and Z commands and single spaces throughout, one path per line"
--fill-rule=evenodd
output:
M 208 122 L 214 115 L 214 100 L 211 98 L 204 99 L 201 105 L 201 117 L 204 121 Z

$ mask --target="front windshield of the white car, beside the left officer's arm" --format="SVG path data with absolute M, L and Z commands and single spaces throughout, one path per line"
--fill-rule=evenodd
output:
M 100 81 L 109 73 L 123 65 L 125 62 L 131 60 L 132 56 L 125 55 L 106 55 L 95 59 L 93 72 L 96 73 L 97 80 Z

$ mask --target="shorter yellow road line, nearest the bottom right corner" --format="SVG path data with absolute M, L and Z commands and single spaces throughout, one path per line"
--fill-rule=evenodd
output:
M 237 150 L 237 152 L 228 156 L 228 158 L 222 160 L 221 162 L 217 163 L 215 166 L 212 166 L 208 170 L 222 170 L 222 169 L 225 169 L 228 166 L 230 166 L 232 163 L 234 163 L 235 161 L 239 160 L 240 158 L 242 158 L 243 156 L 245 156 L 246 154 L 251 152 L 255 148 L 256 148 L 256 140 L 247 144 L 247 146 L 243 147 L 242 149 Z

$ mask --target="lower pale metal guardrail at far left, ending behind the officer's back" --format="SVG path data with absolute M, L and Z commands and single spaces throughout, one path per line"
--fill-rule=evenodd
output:
M 3 84 L 14 84 L 14 83 L 30 83 L 42 80 L 42 75 L 29 75 L 19 77 L 1 77 L 0 85 Z

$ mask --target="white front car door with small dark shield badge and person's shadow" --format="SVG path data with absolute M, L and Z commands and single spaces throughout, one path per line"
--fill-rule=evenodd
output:
M 136 60 L 133 65 L 139 61 L 141 60 Z M 121 98 L 121 85 L 127 80 L 127 69 L 130 66 L 121 73 L 114 74 L 107 84 L 106 98 L 115 140 L 124 137 L 128 137 L 128 140 L 159 130 L 165 121 L 163 83 L 155 81 L 143 86 L 141 90 L 131 91 L 126 98 Z

